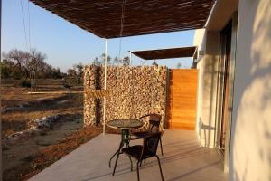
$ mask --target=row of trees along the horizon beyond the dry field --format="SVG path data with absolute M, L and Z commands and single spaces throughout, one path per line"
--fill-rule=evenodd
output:
M 103 53 L 98 58 L 92 60 L 92 64 L 101 66 L 105 62 L 106 55 Z M 24 80 L 19 83 L 22 87 L 30 87 L 30 81 L 33 76 L 36 79 L 62 79 L 71 78 L 76 80 L 77 84 L 82 83 L 83 67 L 82 63 L 74 64 L 67 73 L 61 72 L 60 68 L 54 68 L 45 62 L 47 56 L 42 52 L 32 49 L 30 52 L 13 49 L 7 53 L 3 52 L 3 61 L 0 62 L 1 78 Z M 112 59 L 107 56 L 108 65 L 128 66 L 130 64 L 129 57 Z

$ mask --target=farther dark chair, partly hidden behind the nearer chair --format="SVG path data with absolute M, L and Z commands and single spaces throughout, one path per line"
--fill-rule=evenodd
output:
M 147 121 L 145 122 L 145 129 L 144 130 L 140 130 L 140 131 L 135 131 L 132 132 L 131 135 L 135 136 L 136 138 L 145 138 L 145 135 L 148 135 L 149 133 L 155 133 L 155 132 L 159 132 L 160 130 L 160 122 L 161 122 L 161 115 L 159 114 L 155 114 L 155 113 L 151 113 L 151 114 L 146 114 L 142 117 L 140 117 L 138 120 L 142 120 L 144 121 L 144 119 L 147 119 Z M 161 148 L 161 154 L 162 156 L 164 155 L 163 153 L 163 147 L 162 147 L 162 139 L 160 137 L 160 148 Z

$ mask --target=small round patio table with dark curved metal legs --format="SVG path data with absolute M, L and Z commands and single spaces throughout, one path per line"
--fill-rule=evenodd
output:
M 119 148 L 117 149 L 117 152 L 110 158 L 109 161 L 109 167 L 111 167 L 111 160 L 113 157 L 120 154 L 121 148 L 126 145 L 126 147 L 129 147 L 129 130 L 130 129 L 138 129 L 142 127 L 144 123 L 138 119 L 113 119 L 109 120 L 107 122 L 107 126 L 111 127 L 113 129 L 121 129 L 121 140 Z

